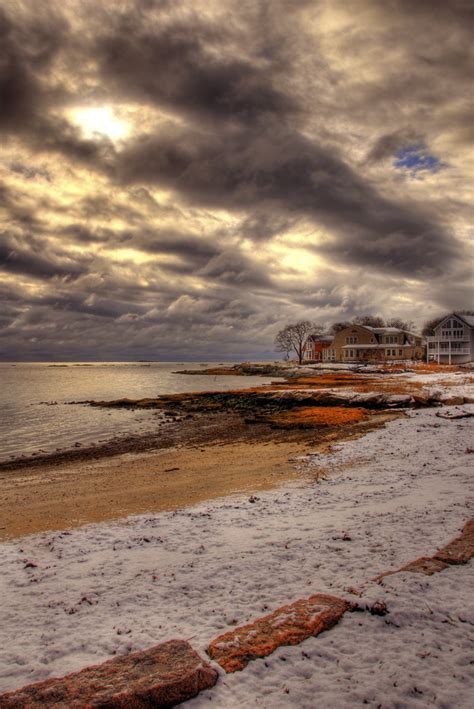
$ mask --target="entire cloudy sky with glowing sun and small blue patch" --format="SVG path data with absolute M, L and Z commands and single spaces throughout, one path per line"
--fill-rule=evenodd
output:
M 0 358 L 473 307 L 471 0 L 0 0 Z

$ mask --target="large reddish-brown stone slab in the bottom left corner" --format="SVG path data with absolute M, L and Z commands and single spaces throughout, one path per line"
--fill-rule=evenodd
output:
M 213 687 L 217 672 L 184 640 L 170 640 L 0 696 L 1 709 L 172 707 Z

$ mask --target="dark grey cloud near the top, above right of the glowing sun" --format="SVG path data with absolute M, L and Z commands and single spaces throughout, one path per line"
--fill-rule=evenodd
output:
M 171 26 L 157 23 L 150 29 L 146 14 L 135 10 L 112 22 L 97 38 L 96 56 L 104 79 L 127 98 L 213 121 L 248 123 L 297 110 L 264 66 L 277 47 L 264 44 L 260 57 L 247 59 L 238 56 L 240 46 L 232 55 L 232 21 L 226 26 L 204 24 L 196 12 L 187 22 L 177 19 Z

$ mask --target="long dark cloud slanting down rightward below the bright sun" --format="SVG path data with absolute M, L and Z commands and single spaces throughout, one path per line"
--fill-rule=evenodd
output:
M 142 137 L 123 151 L 120 179 L 157 182 L 208 207 L 266 204 L 282 218 L 310 216 L 338 234 L 323 250 L 349 262 L 436 272 L 457 255 L 454 240 L 422 210 L 382 197 L 340 157 L 301 134 L 268 128 L 216 135 L 169 127 L 168 134 Z M 260 234 L 265 224 L 260 218 Z

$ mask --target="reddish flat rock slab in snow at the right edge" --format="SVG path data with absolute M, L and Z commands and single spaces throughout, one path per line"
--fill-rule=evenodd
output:
M 422 556 L 419 559 L 410 561 L 408 564 L 396 569 L 395 571 L 386 571 L 379 576 L 376 576 L 374 581 L 380 581 L 385 576 L 398 574 L 401 571 L 411 571 L 412 573 L 425 574 L 431 576 L 439 571 L 444 571 L 448 566 L 456 564 L 467 564 L 474 556 L 474 518 L 466 522 L 462 533 L 452 542 L 446 544 L 433 556 Z

